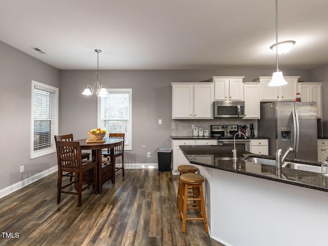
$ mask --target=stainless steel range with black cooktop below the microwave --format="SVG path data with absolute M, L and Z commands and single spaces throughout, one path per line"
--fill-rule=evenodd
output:
M 234 135 L 239 132 L 238 125 L 211 125 L 211 136 L 218 137 L 219 146 L 234 148 Z M 250 139 L 244 139 L 242 134 L 236 135 L 236 149 L 250 151 Z

